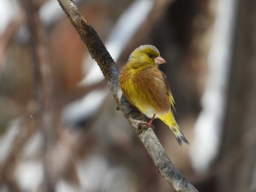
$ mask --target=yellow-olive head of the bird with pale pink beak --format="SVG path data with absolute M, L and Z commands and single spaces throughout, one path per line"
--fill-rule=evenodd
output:
M 159 64 L 165 64 L 166 61 L 160 56 L 157 47 L 153 45 L 141 45 L 129 56 L 129 63 L 137 64 L 138 66 L 151 64 L 158 67 Z

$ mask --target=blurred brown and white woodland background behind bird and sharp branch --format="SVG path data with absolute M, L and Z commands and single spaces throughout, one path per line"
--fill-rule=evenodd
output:
M 190 145 L 154 126 L 176 169 L 198 191 L 256 191 L 256 1 L 75 3 L 119 69 L 139 45 L 167 61 Z M 0 1 L 0 192 L 9 191 L 173 191 L 56 0 Z

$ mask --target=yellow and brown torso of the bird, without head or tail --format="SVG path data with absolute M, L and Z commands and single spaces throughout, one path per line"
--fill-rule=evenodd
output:
M 167 88 L 158 69 L 121 72 L 120 85 L 128 101 L 148 118 L 170 111 Z

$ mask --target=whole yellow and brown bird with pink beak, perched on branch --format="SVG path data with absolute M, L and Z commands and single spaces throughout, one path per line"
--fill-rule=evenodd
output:
M 141 45 L 129 55 L 118 82 L 129 103 L 150 118 L 146 128 L 153 126 L 154 118 L 159 118 L 173 131 L 178 145 L 189 144 L 178 126 L 176 103 L 167 77 L 159 69 L 160 64 L 166 63 L 157 47 Z

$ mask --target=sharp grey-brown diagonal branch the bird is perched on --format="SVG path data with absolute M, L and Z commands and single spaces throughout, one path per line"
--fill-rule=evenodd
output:
M 118 68 L 113 61 L 113 58 L 111 58 L 108 53 L 108 50 L 106 50 L 105 45 L 102 43 L 101 39 L 99 39 L 97 32 L 86 23 L 86 20 L 83 19 L 83 16 L 80 14 L 78 7 L 73 1 L 58 1 L 72 25 L 78 31 L 80 38 L 88 47 L 91 57 L 97 61 L 97 64 L 104 74 L 110 90 L 116 99 L 118 109 L 124 113 L 125 118 L 127 118 L 132 128 L 134 128 L 140 141 L 143 143 L 144 147 L 146 147 L 148 154 L 154 161 L 154 164 L 159 169 L 159 172 L 176 191 L 197 191 L 197 189 L 175 169 L 175 166 L 170 161 L 170 158 L 167 156 L 167 153 L 151 128 L 148 128 L 146 131 L 139 134 L 140 123 L 145 121 L 145 119 L 140 112 L 135 110 L 135 108 L 129 104 L 127 99 L 122 96 L 118 85 Z

